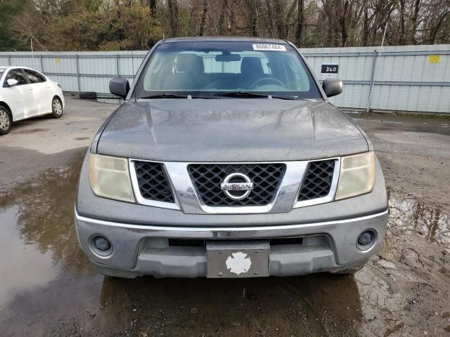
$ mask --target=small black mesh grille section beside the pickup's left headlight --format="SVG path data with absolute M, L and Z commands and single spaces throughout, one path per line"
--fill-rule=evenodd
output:
M 149 161 L 134 161 L 139 192 L 144 199 L 174 203 L 164 166 Z

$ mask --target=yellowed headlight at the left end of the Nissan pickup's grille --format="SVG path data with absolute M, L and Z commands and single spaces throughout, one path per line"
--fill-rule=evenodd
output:
M 89 182 L 98 197 L 135 202 L 126 158 L 90 154 Z

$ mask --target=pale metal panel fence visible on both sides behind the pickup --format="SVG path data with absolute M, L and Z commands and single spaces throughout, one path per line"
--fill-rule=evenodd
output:
M 338 107 L 450 113 L 450 45 L 304 48 L 319 80 L 338 77 L 344 92 L 331 98 Z M 0 53 L 0 65 L 23 65 L 44 72 L 65 91 L 108 93 L 114 77 L 133 79 L 146 51 Z M 321 74 L 337 63 L 338 74 Z

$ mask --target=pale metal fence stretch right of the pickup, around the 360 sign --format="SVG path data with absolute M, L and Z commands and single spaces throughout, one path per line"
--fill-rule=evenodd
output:
M 344 81 L 331 98 L 347 109 L 450 113 L 450 45 L 364 48 L 308 48 L 302 53 L 319 79 Z M 337 75 L 321 74 L 322 62 L 338 62 Z

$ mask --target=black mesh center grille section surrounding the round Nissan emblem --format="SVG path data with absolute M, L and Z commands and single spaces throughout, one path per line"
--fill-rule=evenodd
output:
M 286 165 L 269 164 L 190 164 L 188 173 L 198 197 L 207 206 L 264 206 L 274 201 Z M 221 190 L 220 184 L 231 173 L 243 173 L 255 184 L 242 200 L 233 200 Z

